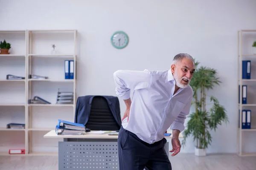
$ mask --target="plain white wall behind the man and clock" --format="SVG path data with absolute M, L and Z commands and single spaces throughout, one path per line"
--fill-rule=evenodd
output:
M 230 123 L 212 133 L 207 152 L 236 152 L 237 31 L 256 29 L 255 0 L 1 0 L 0 6 L 3 30 L 78 30 L 79 96 L 115 96 L 114 71 L 166 70 L 178 53 L 189 53 L 217 69 L 223 83 L 214 92 Z M 110 37 L 117 30 L 129 36 L 125 49 L 111 46 Z M 254 147 L 255 152 L 255 139 L 250 141 L 245 149 Z M 189 140 L 181 152 L 193 149 Z

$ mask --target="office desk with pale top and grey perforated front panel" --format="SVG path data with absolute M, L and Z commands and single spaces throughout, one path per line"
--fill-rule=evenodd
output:
M 57 135 L 55 130 L 51 130 L 44 138 L 63 139 L 63 142 L 58 142 L 59 170 L 119 170 L 117 135 Z M 172 138 L 172 135 L 166 138 Z M 166 143 L 165 150 L 169 156 L 169 142 Z

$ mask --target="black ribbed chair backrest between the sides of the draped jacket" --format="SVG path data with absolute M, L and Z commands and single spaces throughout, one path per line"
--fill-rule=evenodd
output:
M 92 100 L 90 116 L 85 125 L 90 130 L 119 130 L 108 102 L 102 96 L 95 96 Z

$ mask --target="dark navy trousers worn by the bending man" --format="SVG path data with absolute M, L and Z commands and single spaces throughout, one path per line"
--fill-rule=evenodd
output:
M 119 170 L 172 170 L 164 145 L 166 139 L 148 144 L 123 127 L 118 135 Z

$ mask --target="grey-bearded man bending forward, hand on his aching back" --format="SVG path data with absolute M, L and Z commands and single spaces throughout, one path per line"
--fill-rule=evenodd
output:
M 194 71 L 194 59 L 177 54 L 167 71 L 119 70 L 113 74 L 116 94 L 126 105 L 118 136 L 120 170 L 172 170 L 164 133 L 171 127 L 170 152 L 175 156 L 190 110 L 193 91 L 189 82 Z

